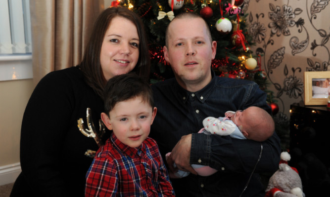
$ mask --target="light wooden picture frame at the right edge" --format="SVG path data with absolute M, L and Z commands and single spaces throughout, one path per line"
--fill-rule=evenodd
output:
M 330 92 L 330 71 L 305 72 L 304 75 L 305 105 L 327 105 Z

